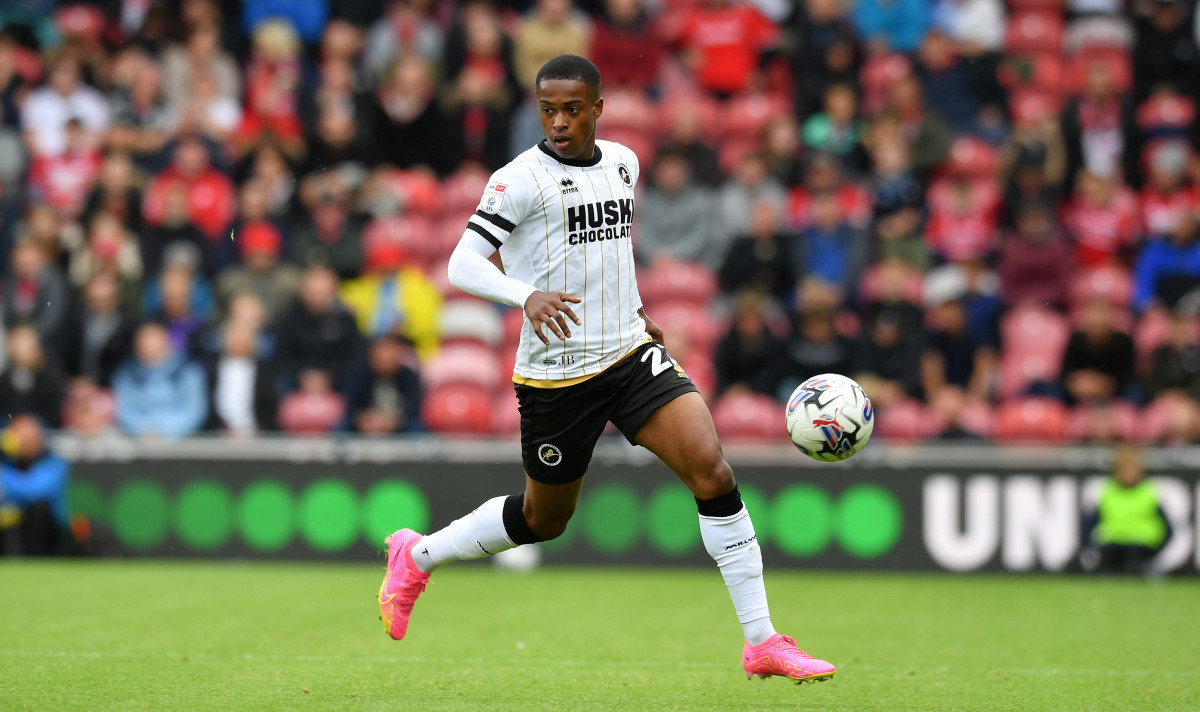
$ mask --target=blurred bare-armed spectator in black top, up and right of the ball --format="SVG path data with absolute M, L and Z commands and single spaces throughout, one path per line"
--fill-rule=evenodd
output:
M 925 396 L 935 401 L 942 390 L 950 389 L 986 401 L 995 379 L 995 348 L 971 331 L 961 303 L 943 301 L 932 317 L 935 325 L 920 363 Z

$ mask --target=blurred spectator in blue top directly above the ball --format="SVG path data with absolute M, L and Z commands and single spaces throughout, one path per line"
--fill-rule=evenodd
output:
M 792 261 L 799 279 L 816 277 L 848 298 L 863 270 L 866 246 L 860 232 L 842 219 L 838 196 L 823 191 L 812 196 L 812 221 L 793 243 Z

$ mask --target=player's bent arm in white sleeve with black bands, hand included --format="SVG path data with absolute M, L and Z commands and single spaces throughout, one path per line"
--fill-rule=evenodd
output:
M 466 232 L 450 255 L 450 283 L 475 297 L 523 307 L 542 343 L 550 343 L 542 325 L 565 341 L 571 335 L 566 318 L 581 323 L 568 303 L 578 304 L 582 300 L 565 292 L 541 292 L 533 285 L 508 276 L 492 261 L 534 202 L 532 191 L 523 190 L 524 186 L 516 181 L 505 181 L 503 174 L 504 170 L 499 170 L 492 175 L 479 209 L 467 222 Z

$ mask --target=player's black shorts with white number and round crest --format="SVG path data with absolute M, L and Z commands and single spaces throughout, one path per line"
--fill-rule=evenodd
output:
M 634 443 L 650 413 L 695 393 L 696 387 L 665 347 L 649 342 L 583 383 L 565 388 L 517 384 L 516 390 L 521 462 L 535 481 L 558 485 L 588 471 L 592 450 L 610 420 Z

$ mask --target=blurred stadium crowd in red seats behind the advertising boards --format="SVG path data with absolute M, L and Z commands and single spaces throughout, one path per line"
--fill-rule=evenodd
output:
M 1188 0 L 12 0 L 0 407 L 512 433 L 518 310 L 445 259 L 604 76 L 648 313 L 722 435 L 821 372 L 895 439 L 1200 438 Z

